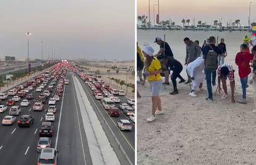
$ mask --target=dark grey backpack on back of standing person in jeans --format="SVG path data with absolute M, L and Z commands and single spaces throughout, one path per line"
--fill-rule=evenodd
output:
M 211 47 L 211 45 L 209 44 Z M 207 57 L 205 59 L 205 69 L 208 70 L 217 70 L 218 69 L 218 54 L 213 50 L 211 47 L 211 50 L 208 51 Z

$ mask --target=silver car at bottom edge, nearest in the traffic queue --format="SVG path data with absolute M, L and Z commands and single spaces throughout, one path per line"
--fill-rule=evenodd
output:
M 55 148 L 43 148 L 38 156 L 38 165 L 57 164 L 58 151 Z

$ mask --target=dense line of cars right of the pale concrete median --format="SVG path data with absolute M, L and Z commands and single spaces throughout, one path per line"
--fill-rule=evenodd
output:
M 132 130 L 135 124 L 134 99 L 124 99 L 124 90 L 111 88 L 99 75 L 87 75 L 74 68 L 71 70 L 88 85 L 95 99 L 101 102 L 110 117 L 120 118 L 116 123 L 120 130 Z M 121 116 L 121 113 L 124 115 Z

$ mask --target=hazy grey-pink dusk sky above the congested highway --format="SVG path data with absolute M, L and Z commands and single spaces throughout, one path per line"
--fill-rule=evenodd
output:
M 48 59 L 48 46 L 62 59 L 134 59 L 135 1 L 1 0 L 0 58 Z

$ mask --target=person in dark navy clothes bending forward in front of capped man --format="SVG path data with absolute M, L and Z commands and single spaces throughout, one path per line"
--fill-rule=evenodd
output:
M 163 63 L 168 69 L 173 70 L 173 74 L 171 74 L 171 81 L 173 82 L 174 91 L 171 92 L 170 95 L 176 95 L 179 93 L 179 91 L 177 90 L 177 77 L 181 79 L 181 82 L 185 82 L 184 78 L 182 78 L 182 76 L 180 75 L 183 69 L 182 64 L 176 59 L 169 59 L 168 56 L 163 56 Z

